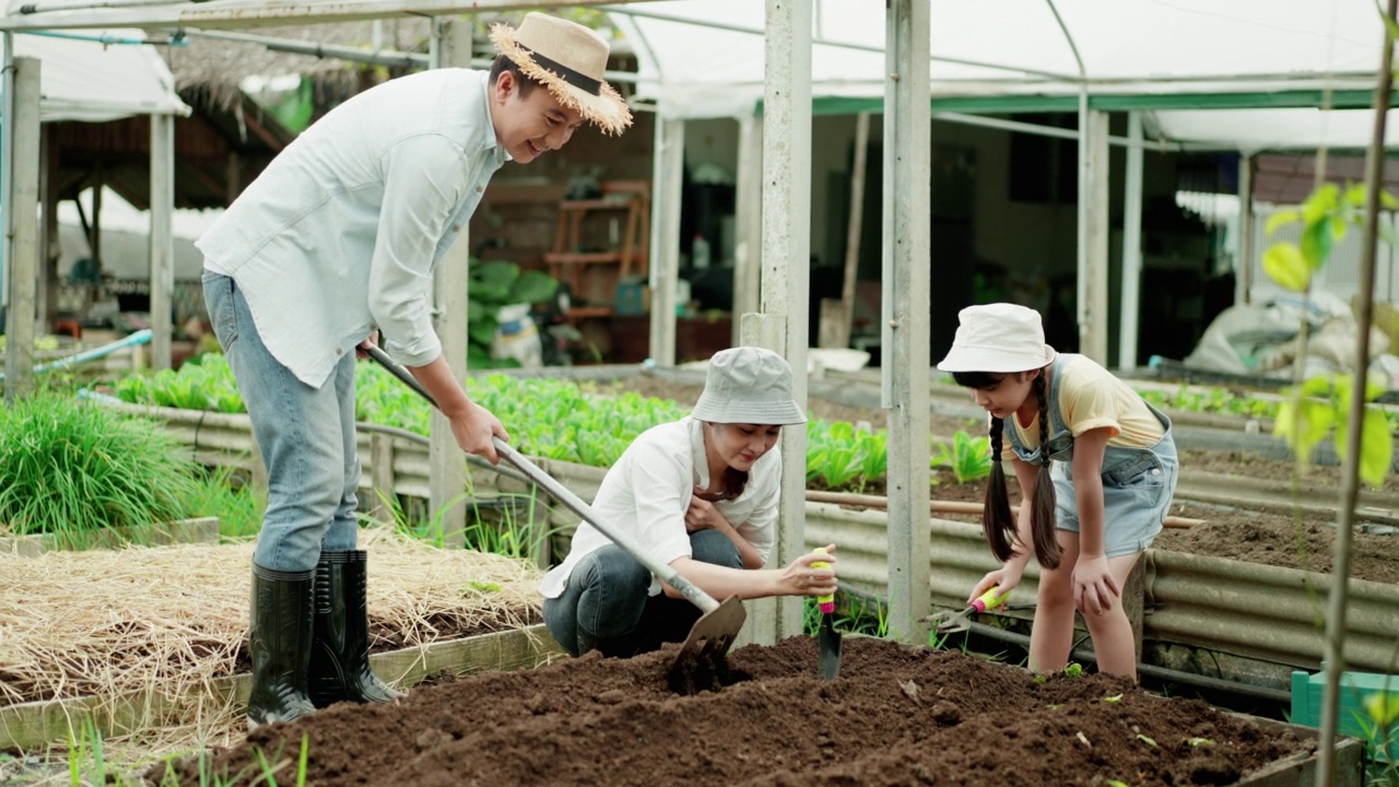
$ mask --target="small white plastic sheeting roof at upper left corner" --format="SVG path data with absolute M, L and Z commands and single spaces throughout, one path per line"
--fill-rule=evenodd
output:
M 74 31 L 73 35 L 140 41 L 139 29 Z M 0 42 L 3 50 L 3 42 Z M 15 34 L 14 52 L 38 57 L 43 122 L 101 123 L 133 115 L 189 115 L 175 77 L 151 46 Z

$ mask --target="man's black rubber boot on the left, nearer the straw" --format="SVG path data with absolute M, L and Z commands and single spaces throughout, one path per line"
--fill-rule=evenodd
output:
M 276 571 L 253 563 L 249 727 L 291 721 L 316 710 L 306 693 L 313 584 L 315 571 Z

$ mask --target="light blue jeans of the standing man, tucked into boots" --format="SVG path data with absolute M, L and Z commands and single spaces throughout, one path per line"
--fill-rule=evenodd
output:
M 311 571 L 322 550 L 354 549 L 358 536 L 355 356 L 346 354 L 330 379 L 312 388 L 263 346 L 231 277 L 206 272 L 204 304 L 267 465 L 267 513 L 253 562 L 277 571 Z

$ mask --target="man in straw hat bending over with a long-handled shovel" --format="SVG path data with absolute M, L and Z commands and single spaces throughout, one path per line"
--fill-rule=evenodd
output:
M 471 402 L 432 330 L 432 272 L 491 175 L 583 123 L 631 125 L 607 43 L 527 14 L 491 31 L 490 73 L 392 80 L 329 112 L 199 239 L 204 300 L 267 464 L 253 555 L 249 725 L 400 696 L 369 669 L 354 363 L 379 330 L 463 451 L 497 462 L 501 422 Z

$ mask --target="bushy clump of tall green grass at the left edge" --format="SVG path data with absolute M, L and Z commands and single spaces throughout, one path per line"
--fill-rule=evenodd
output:
M 0 529 L 77 536 L 183 518 L 194 465 L 145 419 L 36 394 L 0 409 Z

